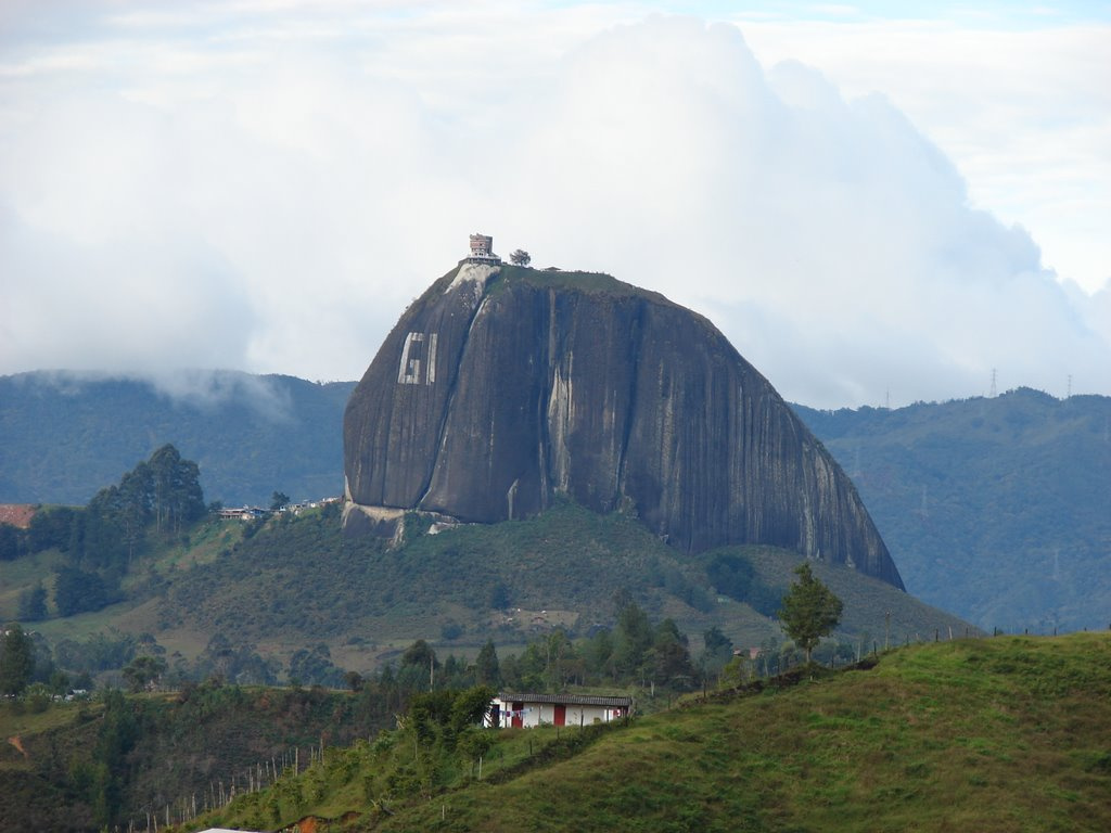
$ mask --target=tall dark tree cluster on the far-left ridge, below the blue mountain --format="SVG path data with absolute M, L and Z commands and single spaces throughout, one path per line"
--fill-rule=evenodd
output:
M 154 541 L 179 538 L 206 513 L 200 470 L 167 444 L 101 489 L 87 506 L 51 506 L 29 529 L 0 524 L 0 560 L 58 550 L 64 555 L 54 574 L 59 616 L 96 611 L 121 599 L 119 582 Z M 46 585 L 24 590 L 18 616 L 37 622 L 50 614 Z

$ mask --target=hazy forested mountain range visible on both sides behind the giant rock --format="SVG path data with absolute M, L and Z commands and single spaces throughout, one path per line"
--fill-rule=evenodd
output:
M 163 443 L 206 499 L 339 494 L 353 382 L 0 378 L 0 502 L 84 503 Z M 988 630 L 1107 628 L 1111 398 L 1031 390 L 895 410 L 795 411 L 857 485 L 909 592 Z

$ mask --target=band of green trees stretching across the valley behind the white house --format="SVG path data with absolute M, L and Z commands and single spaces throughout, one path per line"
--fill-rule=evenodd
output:
M 4 689 L 10 694 L 39 683 L 40 693 L 61 695 L 71 688 L 91 690 L 94 679 L 133 692 L 181 691 L 202 682 L 350 689 L 381 702 L 383 713 L 390 713 L 414 693 L 430 690 L 490 685 L 536 693 L 630 688 L 679 693 L 713 688 L 723 676 L 735 682 L 739 673 L 777 674 L 804 659 L 792 643 L 779 640 L 768 640 L 754 655 L 748 651 L 734 655 L 732 642 L 717 626 L 701 634 L 701 645 L 695 642 L 692 646 L 674 621 L 653 623 L 628 598 L 619 603 L 613 626 L 594 629 L 589 636 L 572 639 L 567 631 L 556 629 L 504 656 L 488 640 L 473 658 L 438 654 L 432 644 L 419 639 L 397 661 L 367 675 L 338 665 L 324 643 L 299 649 L 283 665 L 277 658 L 261 654 L 256 644 L 229 639 L 222 632 L 214 633 L 190 659 L 178 651 L 168 652 L 149 633 L 99 632 L 83 640 L 63 638 L 51 645 L 16 623 L 8 626 L 8 636 L 20 648 L 7 656 L 29 655 L 30 664 L 13 660 L 23 671 L 0 670 L 0 678 L 21 680 Z M 859 645 L 827 641 L 814 651 L 814 660 L 830 664 L 859 659 L 870 648 L 864 644 L 868 638 L 862 639 Z M 0 650 L 0 669 L 10 665 Z

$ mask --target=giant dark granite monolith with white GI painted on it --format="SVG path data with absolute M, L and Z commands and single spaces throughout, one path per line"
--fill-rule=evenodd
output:
M 702 317 L 608 275 L 463 262 L 348 402 L 350 534 L 407 511 L 493 523 L 563 493 L 688 552 L 739 543 L 902 589 L 848 476 Z

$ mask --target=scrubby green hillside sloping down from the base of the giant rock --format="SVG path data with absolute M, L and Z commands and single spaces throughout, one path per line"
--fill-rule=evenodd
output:
M 569 501 L 527 521 L 431 534 L 414 520 L 409 529 L 398 548 L 344 540 L 334 504 L 262 523 L 209 518 L 189 531 L 188 543 L 153 539 L 118 579 L 122 601 L 34 628 L 56 642 L 111 629 L 149 634 L 181 661 L 232 650 L 281 668 L 309 651 L 366 672 L 417 639 L 473 655 L 488 640 L 504 650 L 556 630 L 584 638 L 612 625 L 618 594 L 653 621 L 673 620 L 692 640 L 718 628 L 737 646 L 774 650 L 783 636 L 772 614 L 800 561 L 771 548 L 683 559 L 634 518 L 598 515 Z M 33 558 L 43 572 L 29 569 L 28 559 L 13 562 L 21 569 L 0 586 L 0 615 L 14 618 L 18 599 L 42 579 L 50 584 L 57 556 Z M 839 635 L 858 653 L 873 642 L 948 638 L 968 628 L 853 570 L 813 565 L 844 600 Z M 700 649 L 692 641 L 691 653 Z M 259 671 L 249 681 L 278 679 L 252 663 Z

